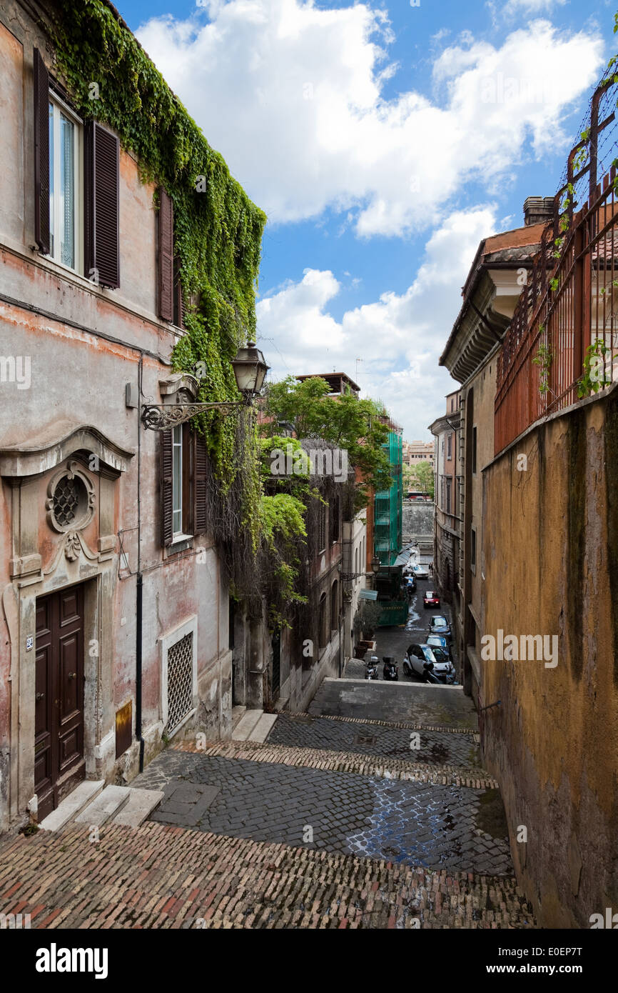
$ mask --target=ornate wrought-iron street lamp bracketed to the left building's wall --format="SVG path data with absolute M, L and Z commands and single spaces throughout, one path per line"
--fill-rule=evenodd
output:
M 203 410 L 225 410 L 228 413 L 236 407 L 250 407 L 259 395 L 269 367 L 264 355 L 249 342 L 246 348 L 239 349 L 232 359 L 232 368 L 241 400 L 224 400 L 213 403 L 149 403 L 142 411 L 142 423 L 151 431 L 167 431 L 177 424 L 184 424 Z

